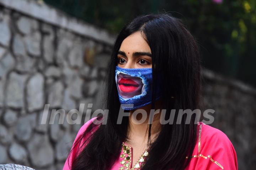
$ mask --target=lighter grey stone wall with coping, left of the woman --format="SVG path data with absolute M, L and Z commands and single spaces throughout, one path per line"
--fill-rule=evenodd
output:
M 44 105 L 101 108 L 113 37 L 34 0 L 0 1 L 0 164 L 62 169 L 81 125 L 41 125 Z

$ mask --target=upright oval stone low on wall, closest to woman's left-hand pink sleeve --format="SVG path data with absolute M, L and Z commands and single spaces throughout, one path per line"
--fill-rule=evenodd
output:
M 69 133 L 65 133 L 61 140 L 56 145 L 56 158 L 59 161 L 65 161 L 69 150 L 72 147 L 74 139 L 69 135 Z

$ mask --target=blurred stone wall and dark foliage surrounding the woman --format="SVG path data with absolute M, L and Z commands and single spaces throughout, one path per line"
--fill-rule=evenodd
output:
M 256 0 L 0 0 L 0 164 L 62 169 L 81 124 L 42 125 L 44 105 L 101 108 L 117 33 L 158 12 L 196 38 L 211 126 L 233 143 L 239 169 L 256 169 Z

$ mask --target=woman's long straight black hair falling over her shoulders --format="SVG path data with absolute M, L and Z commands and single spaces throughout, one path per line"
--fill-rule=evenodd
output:
M 122 124 L 117 124 L 120 102 L 114 75 L 121 43 L 137 31 L 145 34 L 144 39 L 152 53 L 152 108 L 155 105 L 157 86 L 163 92 L 165 120 L 169 119 L 171 109 L 194 110 L 200 107 L 201 60 L 196 40 L 180 19 L 168 13 L 139 16 L 124 26 L 113 45 L 106 81 L 106 109 L 109 110 L 107 124 L 91 124 L 86 129 L 80 142 L 94 126 L 98 126 L 93 135 L 86 139 L 88 143 L 73 161 L 72 170 L 110 169 L 119 157 L 122 142 L 127 140 L 128 117 L 123 118 Z M 183 115 L 181 124 L 176 124 L 175 114 L 174 124 L 161 125 L 158 137 L 150 144 L 143 170 L 180 170 L 186 167 L 190 161 L 186 157 L 192 155 L 196 143 L 197 125 L 194 124 L 194 115 L 190 124 L 185 124 L 185 119 L 186 114 Z M 150 129 L 151 126 L 149 139 Z

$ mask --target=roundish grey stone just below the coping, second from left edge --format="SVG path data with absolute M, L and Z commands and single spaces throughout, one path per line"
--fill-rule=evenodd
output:
M 38 22 L 28 17 L 20 17 L 17 21 L 17 28 L 22 34 L 30 34 L 38 29 Z

